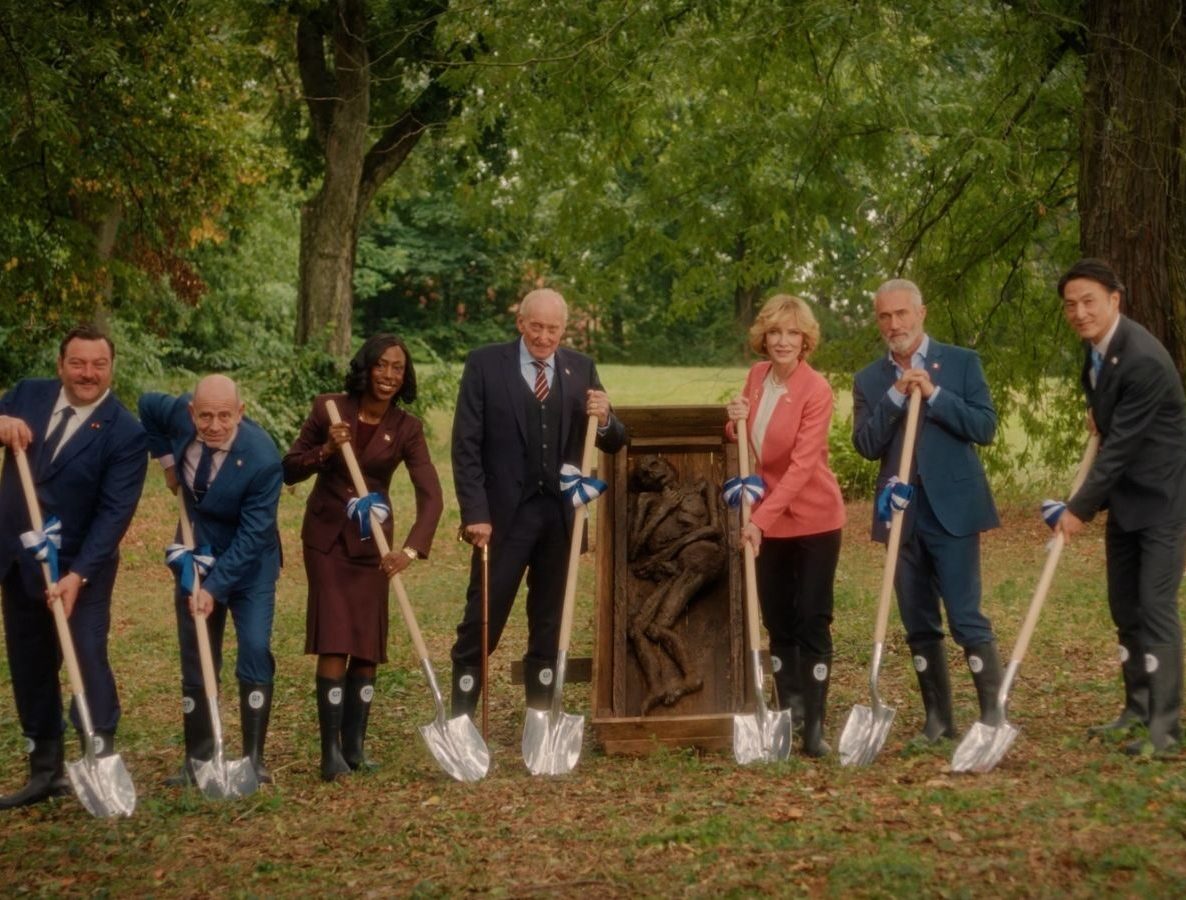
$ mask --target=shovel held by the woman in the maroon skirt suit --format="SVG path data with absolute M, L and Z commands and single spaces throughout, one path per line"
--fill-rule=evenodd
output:
M 332 400 L 326 402 L 325 408 L 330 414 L 331 422 L 337 425 L 342 421 L 338 407 Z M 368 494 L 366 481 L 363 480 L 362 470 L 358 468 L 355 448 L 350 443 L 343 443 L 342 455 L 346 460 L 346 467 L 350 470 L 350 478 L 355 483 L 355 491 L 359 498 L 365 497 Z M 371 536 L 375 538 L 375 545 L 378 548 L 380 558 L 382 558 L 387 556 L 391 548 L 387 543 L 387 535 L 383 534 L 383 523 L 374 509 L 370 512 L 370 517 Z M 486 771 L 490 768 L 490 751 L 486 748 L 486 742 L 482 740 L 482 735 L 478 734 L 478 729 L 470 716 L 460 715 L 449 719 L 445 715 L 445 701 L 441 698 L 441 689 L 436 683 L 436 674 L 433 671 L 433 664 L 428 660 L 428 647 L 425 645 L 425 638 L 420 633 L 420 626 L 416 624 L 416 615 L 412 611 L 412 601 L 408 600 L 408 593 L 403 589 L 403 581 L 398 574 L 393 574 L 390 581 L 395 586 L 395 596 L 400 604 L 400 613 L 403 615 L 403 623 L 408 626 L 408 632 L 412 634 L 412 644 L 420 657 L 420 668 L 425 672 L 425 678 L 428 679 L 428 688 L 432 690 L 433 701 L 436 704 L 436 717 L 431 723 L 420 726 L 420 734 L 423 736 L 425 743 L 428 745 L 429 753 L 433 754 L 441 768 L 458 781 L 478 781 L 485 777 Z

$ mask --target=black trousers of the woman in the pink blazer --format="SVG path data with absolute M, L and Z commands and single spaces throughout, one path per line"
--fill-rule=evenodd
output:
M 831 656 L 841 534 L 761 540 L 758 599 L 771 646 L 798 646 L 811 656 Z

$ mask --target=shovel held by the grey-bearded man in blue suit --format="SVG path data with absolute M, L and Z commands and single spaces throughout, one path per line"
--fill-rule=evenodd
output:
M 906 413 L 906 434 L 903 439 L 901 461 L 898 464 L 898 480 L 910 484 L 910 467 L 914 459 L 914 440 L 918 436 L 918 415 L 923 404 L 919 390 L 911 391 L 910 410 Z M 881 702 L 878 694 L 878 677 L 881 674 L 881 653 L 885 649 L 886 628 L 890 624 L 890 600 L 893 598 L 893 576 L 898 568 L 898 547 L 901 544 L 901 521 L 904 509 L 893 506 L 890 523 L 890 540 L 886 543 L 886 567 L 881 576 L 881 596 L 878 600 L 876 623 L 873 626 L 873 659 L 869 663 L 871 706 L 857 703 L 848 714 L 844 730 L 840 734 L 840 765 L 867 766 L 881 752 L 894 710 Z

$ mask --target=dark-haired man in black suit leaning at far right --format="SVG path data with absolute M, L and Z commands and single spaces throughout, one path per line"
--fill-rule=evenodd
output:
M 1095 734 L 1144 723 L 1165 752 L 1181 741 L 1182 637 L 1178 587 L 1186 563 L 1186 397 L 1156 338 L 1120 312 L 1124 287 L 1101 260 L 1079 260 L 1058 282 L 1063 312 L 1083 339 L 1089 426 L 1101 443 L 1057 528 L 1070 538 L 1108 510 L 1108 605 L 1120 638 L 1124 709 Z M 1150 747 L 1152 745 L 1152 747 Z

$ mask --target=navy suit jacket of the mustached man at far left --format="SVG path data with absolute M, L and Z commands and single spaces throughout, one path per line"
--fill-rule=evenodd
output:
M 52 462 L 40 459 L 62 384 L 57 378 L 19 382 L 0 398 L 0 415 L 25 421 L 33 432 L 28 461 L 45 518 L 62 521 L 62 574 L 102 582 L 115 576 L 120 541 L 140 502 L 148 457 L 145 433 L 123 404 L 109 394 L 66 441 Z M 0 577 L 19 563 L 25 589 L 44 589 L 40 563 L 25 554 L 20 532 L 31 528 L 25 494 L 12 453 L 0 475 Z M 109 581 L 108 581 L 109 583 Z

